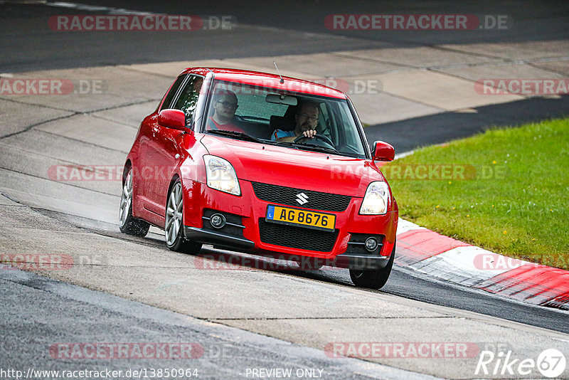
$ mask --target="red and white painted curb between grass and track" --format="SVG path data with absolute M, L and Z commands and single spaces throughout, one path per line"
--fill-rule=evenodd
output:
M 508 258 L 403 219 L 397 240 L 398 265 L 531 305 L 569 310 L 568 270 Z

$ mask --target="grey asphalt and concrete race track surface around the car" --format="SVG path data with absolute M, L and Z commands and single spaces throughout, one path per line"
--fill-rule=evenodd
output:
M 566 95 L 484 97 L 472 89 L 479 78 L 568 78 L 568 4 L 85 4 L 0 1 L 2 79 L 100 85 L 99 92 L 92 87 L 68 96 L 0 95 L 0 253 L 59 255 L 69 264 L 65 270 L 0 270 L 1 379 L 16 378 L 1 372 L 9 369 L 115 369 L 123 373 L 107 377 L 118 379 L 139 377 L 125 374 L 128 369 L 149 374 L 173 366 L 197 370 L 201 379 L 269 378 L 276 369 L 291 369 L 289 378 L 533 379 L 546 375 L 537 368 L 499 373 L 501 366 L 491 373 L 496 361 L 490 373 L 477 372 L 480 355 L 510 352 L 543 364 L 540 354 L 556 349 L 569 359 L 569 313 L 563 310 L 450 285 L 398 265 L 387 285 L 373 291 L 353 287 L 347 270 L 275 267 L 266 258 L 211 247 L 198 256 L 173 253 L 157 228 L 147 238 L 119 233 L 119 181 L 60 181 L 51 169 L 120 167 L 142 117 L 190 64 L 272 72 L 277 57 L 287 75 L 340 78 L 351 91 L 361 81 L 380 83 L 379 93 L 351 98 L 368 140 L 390 142 L 396 153 L 492 125 L 566 116 Z M 48 27 L 50 16 L 121 9 L 214 20 L 227 15 L 236 26 L 124 33 Z M 379 13 L 508 15 L 513 23 L 508 31 L 333 31 L 324 25 L 329 14 Z M 236 265 L 225 263 L 233 257 Z M 446 342 L 467 350 L 339 359 L 330 352 L 338 342 Z M 83 352 L 73 358 L 65 349 L 103 343 L 129 349 L 186 344 L 191 354 L 91 358 Z M 33 371 L 28 378 L 71 378 Z M 569 379 L 569 369 L 556 377 Z

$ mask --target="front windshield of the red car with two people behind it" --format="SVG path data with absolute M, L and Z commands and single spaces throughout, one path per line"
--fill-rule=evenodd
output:
M 205 130 L 216 135 L 366 158 L 365 139 L 345 99 L 215 80 L 206 115 Z M 316 137 L 299 136 L 306 120 Z

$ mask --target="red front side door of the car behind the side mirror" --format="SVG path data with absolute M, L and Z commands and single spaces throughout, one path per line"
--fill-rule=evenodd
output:
M 186 125 L 191 125 L 202 83 L 203 77 L 188 75 L 188 78 L 181 85 L 181 91 L 176 93 L 169 106 L 186 114 Z M 149 190 L 148 206 L 150 211 L 164 218 L 171 178 L 174 176 L 181 159 L 186 157 L 181 145 L 184 132 L 159 125 L 157 118 L 154 120 L 151 129 L 153 137 L 149 140 L 147 159 L 151 166 L 149 173 L 153 175 L 153 178 L 148 181 L 149 186 L 147 186 Z

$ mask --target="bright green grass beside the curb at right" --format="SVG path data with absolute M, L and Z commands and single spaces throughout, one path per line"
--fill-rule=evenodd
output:
M 417 179 L 429 164 L 454 164 L 457 176 Z M 496 253 L 569 270 L 569 119 L 418 149 L 382 170 L 402 218 Z

